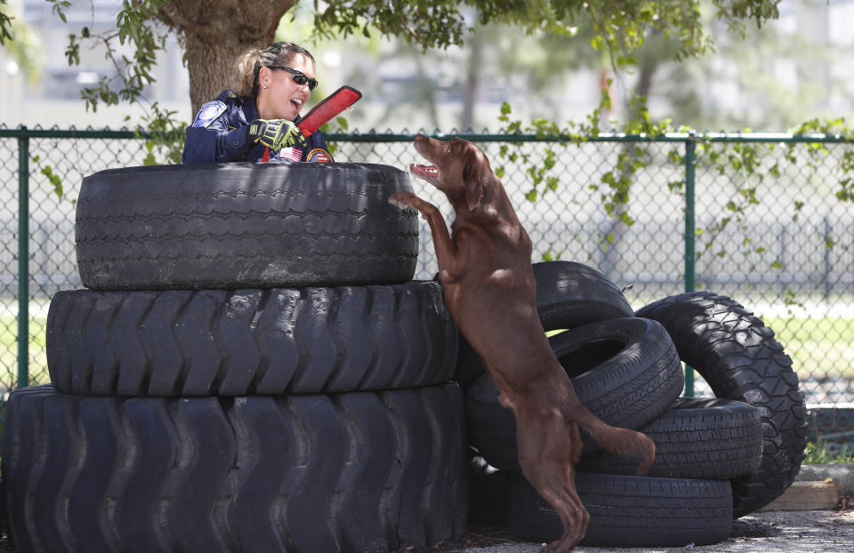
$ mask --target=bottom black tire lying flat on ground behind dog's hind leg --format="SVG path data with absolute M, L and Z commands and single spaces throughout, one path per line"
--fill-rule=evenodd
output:
M 625 477 L 579 472 L 576 489 L 590 513 L 580 545 L 685 547 L 719 543 L 732 530 L 729 480 Z M 510 529 L 523 540 L 554 541 L 563 524 L 520 473 L 507 498 Z

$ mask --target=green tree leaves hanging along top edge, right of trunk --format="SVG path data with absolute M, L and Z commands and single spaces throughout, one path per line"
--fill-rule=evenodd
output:
M 558 36 L 571 36 L 574 27 L 588 20 L 595 29 L 592 47 L 614 52 L 616 59 L 629 60 L 650 29 L 678 40 L 680 56 L 697 55 L 711 45 L 697 17 L 699 0 L 327 0 L 323 4 L 314 2 L 321 35 L 370 36 L 373 27 L 382 36 L 398 36 L 425 49 L 463 44 L 471 27 L 465 7 L 476 12 L 481 25 L 512 23 L 528 32 Z M 777 4 L 779 0 L 714 0 L 716 16 L 741 32 L 745 20 L 761 25 L 776 18 Z

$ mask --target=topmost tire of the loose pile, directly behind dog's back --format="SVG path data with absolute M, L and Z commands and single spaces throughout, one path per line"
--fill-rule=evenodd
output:
M 531 268 L 536 279 L 536 311 L 546 331 L 634 317 L 620 289 L 595 268 L 575 261 L 545 261 Z M 461 340 L 454 380 L 467 389 L 483 370 L 477 352 Z

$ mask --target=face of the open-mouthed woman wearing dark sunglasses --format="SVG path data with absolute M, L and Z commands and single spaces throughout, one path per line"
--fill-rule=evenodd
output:
M 306 55 L 294 54 L 284 67 L 296 69 L 314 78 L 314 62 Z M 262 68 L 258 74 L 258 113 L 262 119 L 287 119 L 293 121 L 300 115 L 302 106 L 309 101 L 309 84 L 294 83 L 294 74 L 282 69 Z M 267 88 L 264 88 L 264 86 Z

